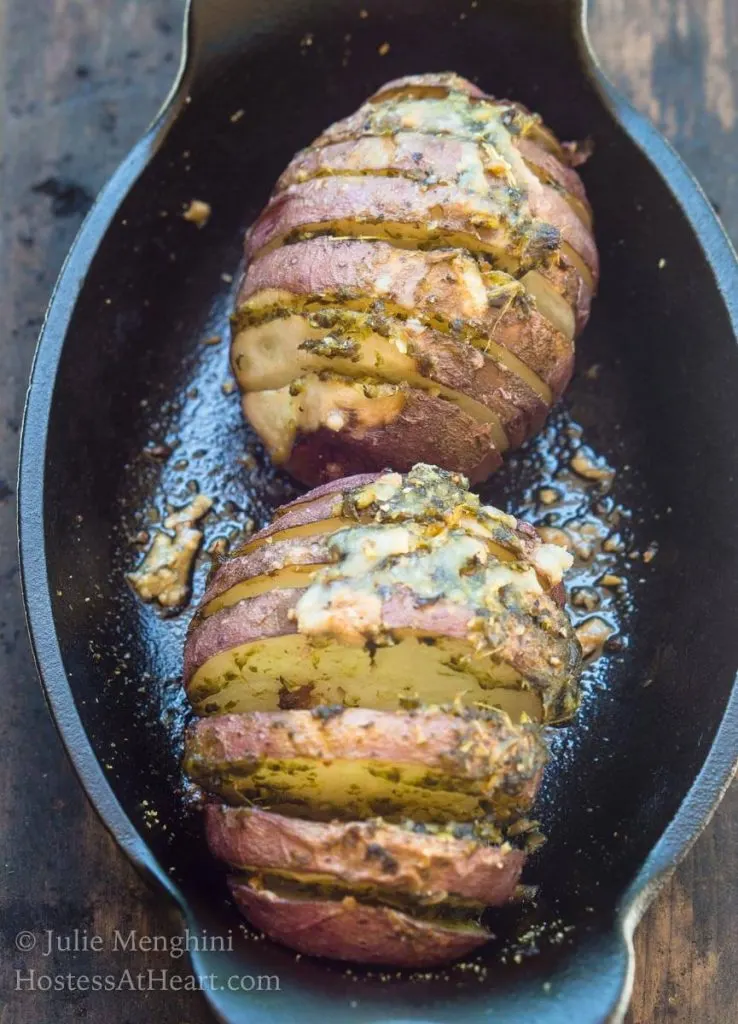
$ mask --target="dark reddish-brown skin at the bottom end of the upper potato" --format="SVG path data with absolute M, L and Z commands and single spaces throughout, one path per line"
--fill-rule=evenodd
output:
M 298 433 L 285 468 L 296 479 L 340 479 L 351 469 L 407 472 L 417 462 L 464 473 L 476 483 L 503 463 L 489 424 L 477 423 L 452 402 L 406 388 L 398 416 L 381 427 L 348 424 L 337 434 L 327 427 Z

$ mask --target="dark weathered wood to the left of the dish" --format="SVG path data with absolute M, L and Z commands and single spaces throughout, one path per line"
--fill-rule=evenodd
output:
M 15 567 L 18 427 L 36 336 L 66 250 L 97 189 L 155 114 L 179 55 L 178 0 L 0 4 L 0 1020 L 210 1021 L 177 992 L 15 991 L 15 970 L 133 975 L 165 953 L 42 955 L 15 934 L 71 928 L 171 935 L 170 918 L 90 810 L 47 714 Z M 186 968 L 182 967 L 186 972 Z

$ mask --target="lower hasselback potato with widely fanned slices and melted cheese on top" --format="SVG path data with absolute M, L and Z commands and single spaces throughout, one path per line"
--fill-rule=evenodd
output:
M 236 904 L 306 953 L 429 967 L 515 896 L 577 703 L 570 556 L 433 466 L 332 481 L 211 573 L 184 767 Z

